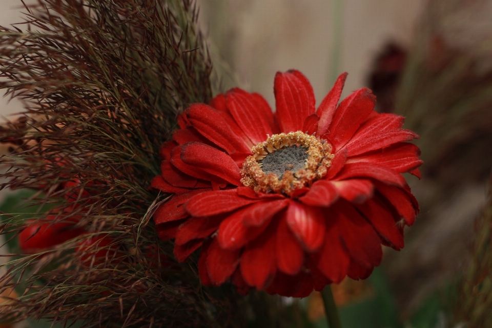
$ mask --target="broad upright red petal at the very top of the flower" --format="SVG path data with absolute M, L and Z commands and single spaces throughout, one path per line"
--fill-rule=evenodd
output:
M 296 70 L 277 72 L 274 91 L 280 130 L 300 131 L 305 118 L 315 112 L 314 91 L 308 79 Z

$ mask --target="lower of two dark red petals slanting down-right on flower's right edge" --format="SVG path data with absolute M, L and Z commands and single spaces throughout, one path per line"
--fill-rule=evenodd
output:
M 358 205 L 367 221 L 371 222 L 378 233 L 387 239 L 397 250 L 403 248 L 403 234 L 398 229 L 395 219 L 390 211 L 375 201 L 368 201 Z

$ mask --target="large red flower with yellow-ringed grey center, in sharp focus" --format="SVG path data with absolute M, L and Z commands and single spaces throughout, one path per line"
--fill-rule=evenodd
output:
M 304 297 L 368 277 L 381 244 L 403 247 L 418 204 L 401 173 L 419 176 L 422 164 L 405 141 L 418 136 L 402 117 L 375 112 L 366 88 L 337 106 L 345 78 L 317 110 L 311 84 L 292 70 L 275 76 L 275 113 L 236 88 L 179 116 L 151 185 L 176 195 L 154 220 L 179 261 L 203 245 L 203 284 Z

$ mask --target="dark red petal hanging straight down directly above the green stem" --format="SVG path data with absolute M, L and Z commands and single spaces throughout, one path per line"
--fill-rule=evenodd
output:
M 340 283 L 347 275 L 350 257 L 343 248 L 340 240 L 340 232 L 335 224 L 326 230 L 324 245 L 320 249 L 320 258 L 317 267 L 335 283 Z

